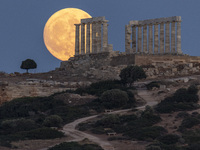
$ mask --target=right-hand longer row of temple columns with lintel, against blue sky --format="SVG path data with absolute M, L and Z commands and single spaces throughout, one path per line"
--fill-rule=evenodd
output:
M 125 27 L 125 51 L 127 54 L 182 54 L 181 17 L 130 21 Z

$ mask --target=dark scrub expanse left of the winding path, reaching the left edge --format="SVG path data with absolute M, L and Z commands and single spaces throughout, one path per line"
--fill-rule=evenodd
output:
M 87 106 L 69 107 L 53 96 L 15 99 L 0 107 L 0 144 L 11 147 L 12 141 L 60 138 L 64 134 L 50 127 L 88 115 Z

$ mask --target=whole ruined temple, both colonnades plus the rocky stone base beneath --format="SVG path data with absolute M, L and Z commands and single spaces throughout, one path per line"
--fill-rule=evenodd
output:
M 143 67 L 148 78 L 200 73 L 200 57 L 182 53 L 180 16 L 130 21 L 125 52 L 113 51 L 108 44 L 105 17 L 82 19 L 75 26 L 75 55 L 61 62 L 59 70 L 77 79 L 119 79 L 127 65 Z

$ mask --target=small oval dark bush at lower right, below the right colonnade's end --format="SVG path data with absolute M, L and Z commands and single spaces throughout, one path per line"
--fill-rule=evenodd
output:
M 167 145 L 176 144 L 179 140 L 179 136 L 176 134 L 168 134 L 165 136 L 161 136 L 160 138 L 158 138 L 158 140 L 162 142 L 163 144 L 167 144 Z

